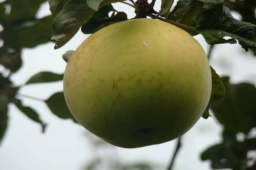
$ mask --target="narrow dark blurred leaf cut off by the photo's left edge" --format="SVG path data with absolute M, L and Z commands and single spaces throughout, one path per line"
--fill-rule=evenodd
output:
M 6 132 L 6 128 L 7 128 L 8 103 L 9 103 L 8 97 L 6 95 L 3 95 L 0 93 L 0 143 L 3 139 L 3 136 L 4 136 L 4 134 Z

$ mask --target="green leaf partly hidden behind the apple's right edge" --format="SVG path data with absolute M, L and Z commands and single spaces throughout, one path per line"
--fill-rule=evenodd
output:
M 225 96 L 225 87 L 221 81 L 221 78 L 216 73 L 216 71 L 212 68 L 212 66 L 211 66 L 211 73 L 212 73 L 212 91 L 211 91 L 209 103 L 202 116 L 204 119 L 207 119 L 210 116 L 209 108 L 212 106 L 212 104 L 215 102 L 218 102 Z

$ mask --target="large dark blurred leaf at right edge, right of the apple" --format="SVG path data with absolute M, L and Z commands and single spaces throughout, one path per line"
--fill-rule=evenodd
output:
M 234 132 L 248 133 L 256 127 L 256 88 L 252 84 L 230 84 L 229 77 L 222 77 L 225 97 L 212 105 L 218 121 Z

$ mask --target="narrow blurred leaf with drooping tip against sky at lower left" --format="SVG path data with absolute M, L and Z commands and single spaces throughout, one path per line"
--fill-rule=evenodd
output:
M 47 126 L 44 122 L 39 118 L 38 113 L 28 106 L 22 105 L 19 99 L 14 99 L 13 103 L 17 106 L 17 108 L 23 112 L 26 116 L 28 116 L 31 120 L 38 122 L 42 127 L 42 133 L 44 133 L 45 127 Z

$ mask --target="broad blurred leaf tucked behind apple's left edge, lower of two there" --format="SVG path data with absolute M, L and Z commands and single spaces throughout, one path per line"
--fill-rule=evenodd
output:
M 53 94 L 45 102 L 56 116 L 62 119 L 73 119 L 74 122 L 77 122 L 67 107 L 63 92 Z

